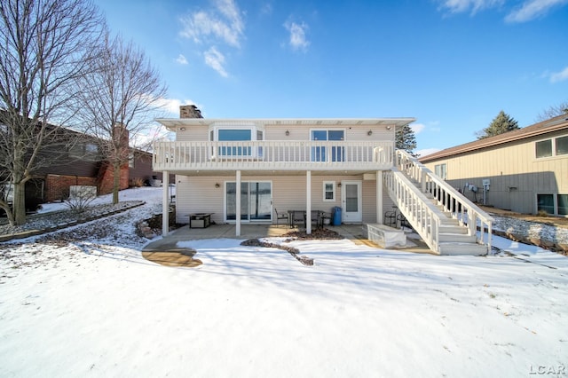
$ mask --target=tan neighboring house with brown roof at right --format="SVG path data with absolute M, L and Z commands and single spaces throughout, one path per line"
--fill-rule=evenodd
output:
M 568 216 L 568 115 L 419 159 L 470 200 Z

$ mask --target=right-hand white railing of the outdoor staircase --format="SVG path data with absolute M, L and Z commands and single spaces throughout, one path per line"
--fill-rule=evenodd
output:
M 422 193 L 433 195 L 438 200 L 438 204 L 443 206 L 443 211 L 452 214 L 452 217 L 455 217 L 461 225 L 467 225 L 469 235 L 476 235 L 477 241 L 486 244 L 488 250 L 491 250 L 493 217 L 479 209 L 463 194 L 405 151 L 397 150 L 396 166 L 399 171 L 406 174 L 406 177 L 419 183 Z M 477 236 L 477 227 L 480 231 L 479 236 Z M 486 240 L 485 235 L 487 235 Z

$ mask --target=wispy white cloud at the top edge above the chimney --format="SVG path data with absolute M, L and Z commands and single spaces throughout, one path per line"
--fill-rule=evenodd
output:
M 195 43 L 212 40 L 213 43 L 227 43 L 241 47 L 245 25 L 241 11 L 233 0 L 215 0 L 209 11 L 193 12 L 181 18 L 180 35 L 193 39 Z

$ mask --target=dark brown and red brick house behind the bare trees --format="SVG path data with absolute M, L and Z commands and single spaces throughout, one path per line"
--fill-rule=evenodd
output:
M 152 170 L 152 154 L 128 147 L 128 133 L 122 138 L 130 159 L 121 167 L 120 189 L 138 183 L 160 183 L 162 173 Z M 33 178 L 26 183 L 29 211 L 45 202 L 67 200 L 71 185 L 97 186 L 98 195 L 113 191 L 114 169 L 99 153 L 95 138 L 62 128 L 59 139 L 60 143 L 51 143 L 40 152 L 37 159 L 45 162 L 31 172 Z

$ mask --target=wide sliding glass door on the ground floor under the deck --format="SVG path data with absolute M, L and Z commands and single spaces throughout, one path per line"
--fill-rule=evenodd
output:
M 225 185 L 225 220 L 237 219 L 237 183 Z M 272 182 L 241 182 L 241 222 L 272 222 Z

